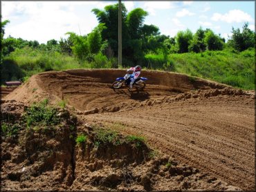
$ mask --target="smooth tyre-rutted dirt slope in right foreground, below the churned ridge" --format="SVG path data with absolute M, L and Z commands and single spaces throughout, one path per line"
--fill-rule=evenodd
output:
M 219 99 L 223 98 L 215 102 Z M 253 104 L 252 99 L 250 102 Z M 230 104 L 226 104 L 228 107 L 214 106 L 214 103 L 207 106 L 202 102 L 194 106 L 180 102 L 176 104 L 179 108 L 175 104 L 174 107 L 161 105 L 154 106 L 154 110 L 136 108 L 133 112 L 93 114 L 85 119 L 127 124 L 125 132 L 145 135 L 149 144 L 181 162 L 241 189 L 252 190 L 255 185 L 254 108 L 252 105 L 229 107 Z M 227 113 L 231 109 L 232 113 Z M 192 113 L 195 110 L 196 113 Z

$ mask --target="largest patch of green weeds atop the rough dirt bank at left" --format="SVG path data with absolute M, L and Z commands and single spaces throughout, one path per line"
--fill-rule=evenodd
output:
M 24 119 L 28 128 L 30 126 L 51 126 L 60 123 L 60 117 L 57 116 L 57 110 L 48 105 L 48 99 L 44 99 L 39 104 L 33 104 L 26 108 Z

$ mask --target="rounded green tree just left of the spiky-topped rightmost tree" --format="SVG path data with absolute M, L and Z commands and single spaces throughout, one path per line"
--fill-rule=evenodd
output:
M 208 50 L 223 50 L 223 40 L 218 35 L 215 35 L 212 30 L 205 32 L 204 41 Z

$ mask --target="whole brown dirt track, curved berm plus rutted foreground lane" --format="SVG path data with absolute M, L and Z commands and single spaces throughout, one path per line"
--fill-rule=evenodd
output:
M 125 70 L 35 75 L 4 99 L 64 100 L 86 124 L 122 124 L 152 148 L 242 190 L 255 189 L 255 94 L 186 75 L 143 70 L 145 90 L 113 90 Z

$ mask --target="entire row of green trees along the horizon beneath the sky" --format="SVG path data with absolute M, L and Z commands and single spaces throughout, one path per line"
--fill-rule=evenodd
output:
M 118 57 L 118 3 L 106 6 L 104 10 L 95 8 L 92 12 L 99 24 L 89 34 L 77 35 L 75 32 L 66 32 L 68 38 L 61 38 L 60 41 L 51 39 L 46 44 L 13 37 L 3 39 L 4 28 L 9 22 L 3 21 L 1 22 L 1 56 L 4 57 L 17 48 L 28 46 L 73 55 L 78 61 L 94 61 L 99 55 L 108 59 Z M 149 53 L 162 54 L 166 57 L 172 53 L 223 50 L 226 47 L 241 52 L 255 47 L 255 32 L 248 28 L 248 23 L 244 23 L 241 31 L 239 28 L 232 28 L 232 35 L 226 42 L 211 29 L 203 30 L 201 27 L 194 34 L 187 29 L 179 31 L 175 37 L 161 35 L 157 26 L 144 23 L 147 15 L 148 12 L 142 8 L 127 12 L 122 3 L 122 61 L 126 66 L 137 64 L 143 66 L 145 55 Z

